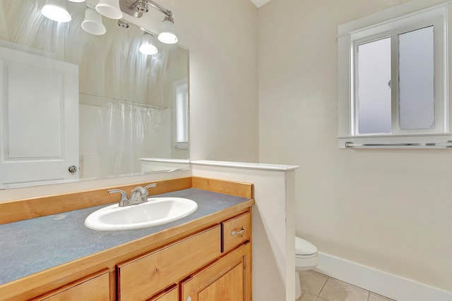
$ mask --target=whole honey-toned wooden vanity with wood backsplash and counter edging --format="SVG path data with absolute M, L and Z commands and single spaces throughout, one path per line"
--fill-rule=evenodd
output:
M 157 194 L 194 188 L 246 200 L 218 210 L 211 205 L 199 219 L 138 235 L 137 239 L 3 283 L 0 300 L 251 301 L 253 185 L 199 177 L 157 182 Z M 117 188 L 131 190 L 148 184 Z M 114 199 L 108 189 L 4 202 L 0 220 L 2 224 L 25 221 L 109 204 Z M 24 243 L 20 241 L 16 247 Z M 53 243 L 50 235 L 49 244 Z M 54 252 L 59 252 L 58 245 L 54 245 Z M 48 254 L 52 256 L 52 252 Z

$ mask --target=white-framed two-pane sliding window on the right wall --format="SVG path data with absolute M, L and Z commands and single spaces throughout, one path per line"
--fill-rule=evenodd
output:
M 338 27 L 341 148 L 452 146 L 448 7 L 415 11 L 420 4 Z

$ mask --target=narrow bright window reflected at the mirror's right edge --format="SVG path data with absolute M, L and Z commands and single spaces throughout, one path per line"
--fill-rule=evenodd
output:
M 187 80 L 173 83 L 174 95 L 174 148 L 189 147 L 189 84 Z

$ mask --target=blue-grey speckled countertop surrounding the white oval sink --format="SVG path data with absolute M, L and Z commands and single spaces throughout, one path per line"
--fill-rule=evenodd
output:
M 195 188 L 152 196 L 186 197 L 197 202 L 198 209 L 179 221 L 128 231 L 102 232 L 85 227 L 86 217 L 107 205 L 0 225 L 0 285 L 249 200 Z

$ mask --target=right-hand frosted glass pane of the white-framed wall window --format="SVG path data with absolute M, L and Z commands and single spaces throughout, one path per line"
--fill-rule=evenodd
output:
M 398 44 L 400 128 L 433 128 L 433 26 L 398 35 Z

